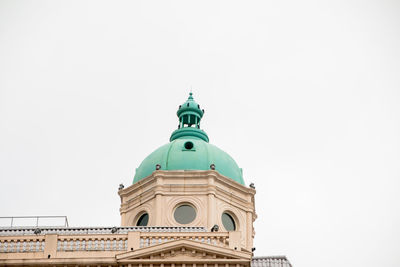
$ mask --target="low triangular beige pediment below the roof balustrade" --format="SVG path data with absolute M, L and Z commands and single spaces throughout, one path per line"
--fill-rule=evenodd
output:
M 218 247 L 193 240 L 175 240 L 151 247 L 140 248 L 116 256 L 118 262 L 140 260 L 150 262 L 243 261 L 251 254 L 228 247 Z

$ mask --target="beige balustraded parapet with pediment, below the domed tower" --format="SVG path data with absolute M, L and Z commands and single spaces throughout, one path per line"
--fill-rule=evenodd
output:
M 249 266 L 237 233 L 0 236 L 0 266 Z

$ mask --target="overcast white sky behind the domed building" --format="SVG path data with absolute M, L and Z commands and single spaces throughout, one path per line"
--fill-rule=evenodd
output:
M 0 216 L 119 225 L 177 127 L 257 189 L 256 255 L 400 266 L 399 1 L 0 1 Z

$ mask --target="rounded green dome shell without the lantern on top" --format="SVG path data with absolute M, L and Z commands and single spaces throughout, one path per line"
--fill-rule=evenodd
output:
M 188 149 L 193 144 L 193 148 Z M 185 148 L 188 147 L 188 148 Z M 198 138 L 178 138 L 163 145 L 145 158 L 136 169 L 133 183 L 149 176 L 156 170 L 210 170 L 210 165 L 215 165 L 215 170 L 220 174 L 244 185 L 242 169 L 226 152 Z

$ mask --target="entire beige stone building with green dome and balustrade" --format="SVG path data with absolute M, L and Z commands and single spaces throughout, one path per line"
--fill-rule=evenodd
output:
M 275 267 L 253 257 L 254 186 L 200 128 L 190 93 L 178 129 L 119 188 L 121 227 L 0 229 L 1 266 Z

